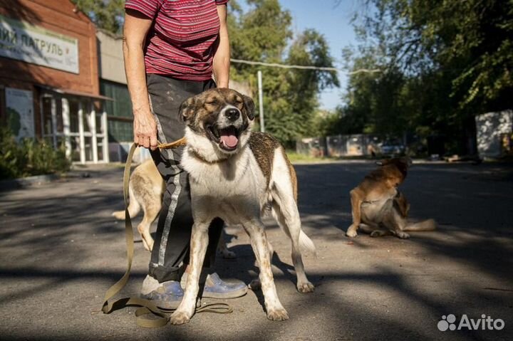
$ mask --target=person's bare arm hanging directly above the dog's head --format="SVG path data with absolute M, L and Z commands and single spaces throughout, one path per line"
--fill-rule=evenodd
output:
M 228 88 L 229 84 L 229 38 L 227 24 L 227 5 L 217 5 L 217 14 L 221 27 L 219 28 L 219 45 L 214 52 L 214 61 L 212 62 L 212 70 L 217 83 L 217 88 Z

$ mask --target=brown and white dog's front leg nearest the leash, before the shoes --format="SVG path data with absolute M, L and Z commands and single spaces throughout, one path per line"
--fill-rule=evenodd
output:
M 182 325 L 189 322 L 196 310 L 196 298 L 199 290 L 199 276 L 202 271 L 203 261 L 208 246 L 207 223 L 195 223 L 192 226 L 190 244 L 189 276 L 185 287 L 185 295 L 175 313 L 171 315 L 173 325 Z

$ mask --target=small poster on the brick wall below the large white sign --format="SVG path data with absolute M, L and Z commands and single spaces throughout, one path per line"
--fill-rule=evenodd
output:
M 32 91 L 6 88 L 7 122 L 16 137 L 35 137 Z

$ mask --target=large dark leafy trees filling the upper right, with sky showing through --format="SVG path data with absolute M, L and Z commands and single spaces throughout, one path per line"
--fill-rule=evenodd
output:
M 441 134 L 464 151 L 476 114 L 513 107 L 513 1 L 370 0 L 341 117 L 373 132 Z M 356 118 L 356 117 L 355 117 Z M 467 148 L 468 149 L 468 148 Z

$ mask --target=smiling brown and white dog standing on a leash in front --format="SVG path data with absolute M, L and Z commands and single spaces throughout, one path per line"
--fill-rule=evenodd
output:
M 291 238 L 297 289 L 314 290 L 304 272 L 301 251 L 315 253 L 314 243 L 301 230 L 296 204 L 296 173 L 284 148 L 271 135 L 250 132 L 254 103 L 229 89 L 211 89 L 186 100 L 180 107 L 186 122 L 187 145 L 182 166 L 189 174 L 192 216 L 190 274 L 185 296 L 171 315 L 175 325 L 188 322 L 195 312 L 199 275 L 212 219 L 241 224 L 251 238 L 260 268 L 267 318 L 289 318 L 281 305 L 271 272 L 271 255 L 261 221 L 266 207 Z

